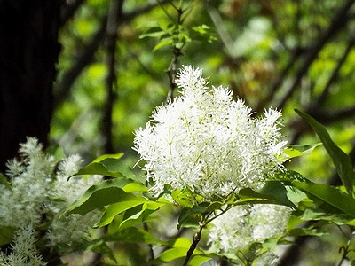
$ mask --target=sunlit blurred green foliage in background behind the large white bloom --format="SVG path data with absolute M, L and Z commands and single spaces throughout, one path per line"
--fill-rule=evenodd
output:
M 355 9 L 351 2 L 123 1 L 114 55 L 114 151 L 125 153 L 128 165 L 138 160 L 131 150 L 134 130 L 143 127 L 154 107 L 166 101 L 170 90 L 166 70 L 177 45 L 182 48 L 177 66 L 203 68 L 211 83 L 229 87 L 256 115 L 269 106 L 282 108 L 289 144 L 319 142 L 296 116 L 294 108 L 298 108 L 326 124 L 335 143 L 350 153 L 355 136 L 355 24 L 351 20 Z M 108 0 L 84 1 L 59 35 L 62 51 L 50 137 L 66 153 L 80 153 L 88 161 L 105 153 L 109 7 Z M 181 21 L 176 7 L 184 12 Z M 99 35 L 100 31 L 104 33 Z M 95 42 L 88 62 L 77 66 Z M 67 75 L 75 70 L 67 86 Z M 335 174 L 323 147 L 291 160 L 288 167 L 314 182 L 326 183 Z

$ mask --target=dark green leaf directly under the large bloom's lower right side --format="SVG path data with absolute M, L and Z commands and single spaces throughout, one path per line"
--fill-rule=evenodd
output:
M 241 199 L 237 200 L 237 204 L 272 203 L 296 209 L 296 205 L 288 199 L 288 192 L 285 186 L 279 181 L 267 182 L 259 192 L 255 192 L 250 188 L 242 189 L 239 195 Z

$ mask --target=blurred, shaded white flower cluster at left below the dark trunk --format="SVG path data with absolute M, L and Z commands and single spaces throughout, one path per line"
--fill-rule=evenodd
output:
M 36 230 L 45 224 L 48 247 L 59 254 L 73 251 L 76 244 L 90 238 L 99 214 L 59 216 L 100 177 L 67 180 L 78 170 L 82 159 L 69 156 L 55 170 L 54 157 L 43 153 L 43 146 L 34 137 L 21 144 L 19 152 L 20 160 L 7 164 L 9 185 L 0 184 L 0 225 L 15 230 L 31 225 Z

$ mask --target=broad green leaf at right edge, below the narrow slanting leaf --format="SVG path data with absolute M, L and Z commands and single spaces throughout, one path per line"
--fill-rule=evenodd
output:
M 309 195 L 310 199 L 319 205 L 320 208 L 324 209 L 321 203 L 325 202 L 331 207 L 335 207 L 335 210 L 347 215 L 355 216 L 355 200 L 340 189 L 328 184 L 304 184 L 297 181 L 294 181 L 292 184 L 297 189 Z M 317 200 L 319 200 L 320 203 L 318 203 Z M 326 210 L 329 211 L 328 209 Z

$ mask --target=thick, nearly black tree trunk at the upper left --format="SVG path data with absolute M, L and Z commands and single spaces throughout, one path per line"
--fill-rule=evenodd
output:
M 44 145 L 62 0 L 0 0 L 0 171 L 27 136 Z

